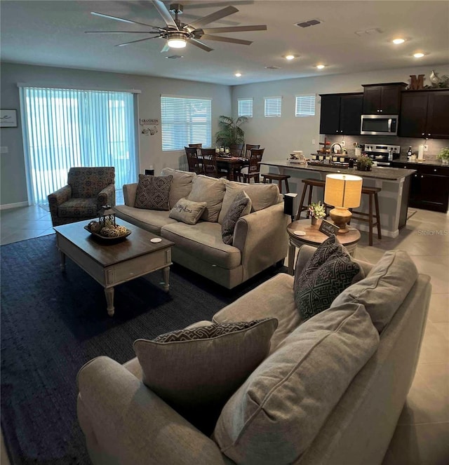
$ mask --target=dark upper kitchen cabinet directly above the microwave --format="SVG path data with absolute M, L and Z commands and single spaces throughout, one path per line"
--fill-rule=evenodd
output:
M 363 85 L 363 114 L 399 114 L 405 82 Z

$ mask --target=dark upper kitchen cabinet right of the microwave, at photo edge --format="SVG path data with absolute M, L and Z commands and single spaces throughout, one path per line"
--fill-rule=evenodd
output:
M 398 135 L 449 137 L 449 90 L 408 90 L 402 93 Z

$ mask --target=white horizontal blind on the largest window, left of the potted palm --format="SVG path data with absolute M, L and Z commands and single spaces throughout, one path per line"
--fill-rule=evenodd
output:
M 161 96 L 162 151 L 212 145 L 212 100 Z

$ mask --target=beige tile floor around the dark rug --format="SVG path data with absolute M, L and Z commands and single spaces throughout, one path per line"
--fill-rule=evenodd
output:
M 406 228 L 397 238 L 375 239 L 370 247 L 367 234 L 362 233 L 356 250 L 357 258 L 372 263 L 377 262 L 385 250 L 407 250 L 419 271 L 431 276 L 432 283 L 429 317 L 417 373 L 382 465 L 447 465 L 449 216 L 426 210 L 413 210 L 409 215 Z M 37 206 L 0 210 L 0 222 L 2 245 L 53 232 L 50 214 Z M 0 458 L 2 465 L 8 465 L 3 437 Z

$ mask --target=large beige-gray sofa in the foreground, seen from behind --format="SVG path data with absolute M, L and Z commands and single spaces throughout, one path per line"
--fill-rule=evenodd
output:
M 300 249 L 297 274 L 313 253 Z M 358 264 L 366 277 L 304 323 L 287 274 L 215 314 L 217 323 L 279 324 L 269 355 L 227 400 L 212 436 L 142 383 L 137 358 L 84 365 L 78 416 L 93 463 L 381 464 L 415 375 L 431 285 L 401 250 Z

